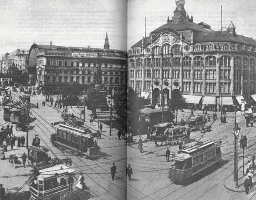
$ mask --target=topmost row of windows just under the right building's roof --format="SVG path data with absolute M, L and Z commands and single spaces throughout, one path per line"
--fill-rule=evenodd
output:
M 189 51 L 190 47 L 188 45 L 184 46 L 183 49 L 185 51 Z M 168 55 L 170 53 L 170 45 L 169 44 L 164 44 L 163 47 L 162 47 L 162 50 L 163 50 L 163 55 Z M 171 49 L 171 52 L 174 54 L 174 55 L 177 55 L 180 53 L 180 45 L 178 44 L 175 44 L 174 46 L 172 46 L 172 49 Z M 215 44 L 213 43 L 210 43 L 208 44 L 207 46 L 203 46 L 201 44 L 196 44 L 194 46 L 194 51 L 215 51 L 216 50 L 216 46 Z M 221 46 L 221 50 L 222 51 L 228 51 L 228 50 L 231 50 L 231 46 L 227 43 L 224 43 L 222 46 Z M 246 46 L 246 45 L 240 45 L 240 44 L 237 44 L 236 45 L 236 51 L 248 51 L 248 52 L 256 52 L 256 48 L 253 47 L 253 46 Z M 146 49 L 146 52 L 149 53 L 150 52 L 150 49 L 147 48 Z M 133 49 L 133 50 L 130 50 L 129 51 L 129 55 L 135 55 L 135 54 L 141 54 L 143 53 L 141 49 Z M 160 55 L 160 46 L 154 46 L 153 47 L 153 53 L 154 55 Z

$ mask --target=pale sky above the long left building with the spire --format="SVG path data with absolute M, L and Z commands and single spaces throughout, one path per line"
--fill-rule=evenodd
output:
M 0 54 L 34 43 L 127 50 L 127 0 L 0 0 Z

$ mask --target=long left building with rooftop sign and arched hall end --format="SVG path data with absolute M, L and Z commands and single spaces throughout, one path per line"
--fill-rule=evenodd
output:
M 127 87 L 127 52 L 109 49 L 108 35 L 104 47 L 96 49 L 33 44 L 29 50 L 29 73 L 44 92 L 58 93 L 72 88 L 91 87 L 96 66 L 102 70 L 105 90 L 115 92 Z M 35 74 L 35 75 L 34 75 Z

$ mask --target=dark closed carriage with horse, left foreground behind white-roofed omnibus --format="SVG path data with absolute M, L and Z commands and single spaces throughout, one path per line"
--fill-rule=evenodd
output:
M 58 159 L 57 157 L 51 158 L 48 156 L 49 149 L 47 148 L 38 148 L 35 146 L 29 147 L 28 150 L 28 163 L 30 166 L 37 165 L 40 167 L 40 164 L 47 165 L 58 165 L 58 164 L 69 164 L 72 165 L 70 158 L 67 159 Z

